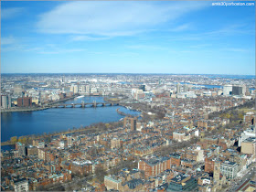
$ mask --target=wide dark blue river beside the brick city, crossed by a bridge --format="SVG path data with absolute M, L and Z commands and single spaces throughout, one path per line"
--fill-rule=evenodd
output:
M 104 102 L 103 97 L 85 96 L 62 103 L 81 103 L 81 101 Z M 91 123 L 117 122 L 123 118 L 123 115 L 116 112 L 118 108 L 121 112 L 133 115 L 140 113 L 130 111 L 123 106 L 52 108 L 36 112 L 1 113 L 1 141 L 5 142 L 12 136 L 68 131 L 73 127 L 80 128 Z

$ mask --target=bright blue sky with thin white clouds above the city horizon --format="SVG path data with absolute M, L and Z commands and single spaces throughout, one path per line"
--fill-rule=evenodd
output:
M 1 2 L 1 73 L 255 75 L 255 7 Z

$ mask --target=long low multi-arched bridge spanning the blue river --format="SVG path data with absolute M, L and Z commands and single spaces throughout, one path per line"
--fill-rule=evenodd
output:
M 119 103 L 114 102 L 81 102 L 81 103 L 63 103 L 48 105 L 49 108 L 86 108 L 86 107 L 105 107 L 105 106 L 118 106 Z

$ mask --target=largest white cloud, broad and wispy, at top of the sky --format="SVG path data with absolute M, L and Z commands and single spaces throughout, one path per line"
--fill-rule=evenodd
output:
M 37 29 L 53 34 L 131 36 L 208 5 L 208 2 L 69 2 L 40 15 Z

